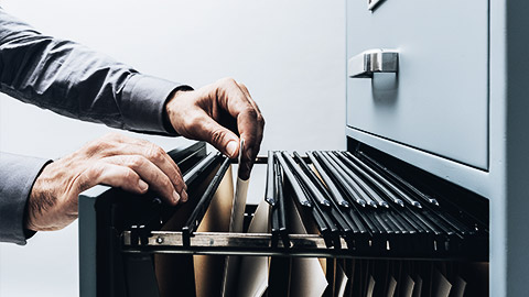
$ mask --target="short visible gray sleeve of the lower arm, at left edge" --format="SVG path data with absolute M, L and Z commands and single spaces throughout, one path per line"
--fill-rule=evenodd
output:
M 0 153 L 0 242 L 25 244 L 28 197 L 48 160 Z

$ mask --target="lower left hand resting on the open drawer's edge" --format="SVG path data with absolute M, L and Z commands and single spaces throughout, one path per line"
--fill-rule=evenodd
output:
M 170 205 L 187 200 L 182 173 L 162 148 L 112 133 L 44 167 L 28 200 L 25 228 L 68 226 L 77 218 L 78 195 L 98 184 L 136 194 L 150 187 Z

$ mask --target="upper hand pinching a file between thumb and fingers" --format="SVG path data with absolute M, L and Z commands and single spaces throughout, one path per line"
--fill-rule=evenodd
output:
M 245 140 L 240 177 L 249 178 L 264 119 L 245 85 L 225 78 L 197 90 L 176 91 L 165 111 L 179 134 L 207 141 L 231 158 L 239 154 L 240 135 Z

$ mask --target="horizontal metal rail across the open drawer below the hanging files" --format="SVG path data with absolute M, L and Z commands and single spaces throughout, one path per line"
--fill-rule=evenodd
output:
M 390 250 L 385 253 L 356 251 L 352 249 L 328 249 L 324 239 L 319 234 L 289 234 L 291 248 L 284 248 L 278 242 L 277 248 L 271 248 L 272 234 L 270 233 L 228 233 L 228 232 L 196 232 L 191 238 L 190 245 L 184 244 L 180 231 L 152 231 L 151 237 L 143 244 L 131 242 L 131 232 L 121 234 L 122 253 L 151 253 L 151 254 L 193 254 L 193 255 L 249 255 L 249 256 L 289 256 L 289 257 L 339 257 L 339 258 L 400 258 L 400 260 L 457 260 L 484 261 L 472 255 L 443 255 L 432 257 L 410 254 L 392 255 Z M 341 239 L 342 246 L 347 246 Z

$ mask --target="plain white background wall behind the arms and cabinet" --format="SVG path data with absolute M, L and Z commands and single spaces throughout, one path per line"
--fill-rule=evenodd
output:
M 345 148 L 345 1 L 2 0 L 41 32 L 195 88 L 246 84 L 268 150 Z M 0 96 L 0 151 L 57 158 L 112 129 Z M 184 140 L 147 136 L 165 150 Z M 256 177 L 257 176 L 257 177 Z M 258 172 L 253 180 L 264 180 Z M 250 193 L 258 201 L 262 194 Z M 0 296 L 77 296 L 77 224 L 0 244 Z

